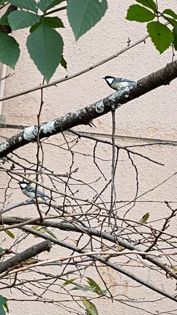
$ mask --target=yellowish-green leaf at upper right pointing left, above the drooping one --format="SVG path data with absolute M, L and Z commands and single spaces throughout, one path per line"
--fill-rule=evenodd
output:
M 154 18 L 154 13 L 139 5 L 131 5 L 126 14 L 126 20 L 129 21 L 149 22 Z

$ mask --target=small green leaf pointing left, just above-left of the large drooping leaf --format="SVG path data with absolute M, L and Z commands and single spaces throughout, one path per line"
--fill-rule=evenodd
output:
M 13 11 L 9 14 L 8 20 L 13 31 L 19 28 L 29 27 L 37 23 L 39 15 L 27 11 Z

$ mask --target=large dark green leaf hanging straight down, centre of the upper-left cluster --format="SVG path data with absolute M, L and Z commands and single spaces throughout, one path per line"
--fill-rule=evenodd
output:
M 62 36 L 42 23 L 28 35 L 26 46 L 31 59 L 48 83 L 62 58 Z

